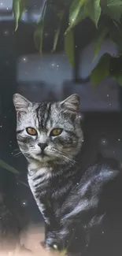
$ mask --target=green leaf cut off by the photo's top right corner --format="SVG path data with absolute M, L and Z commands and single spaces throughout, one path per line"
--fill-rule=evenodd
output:
M 102 11 L 109 15 L 113 20 L 120 21 L 120 17 L 122 15 L 122 1 L 105 0 Z

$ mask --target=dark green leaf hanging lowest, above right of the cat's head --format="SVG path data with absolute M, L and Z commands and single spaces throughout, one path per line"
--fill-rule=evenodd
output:
M 109 65 L 110 65 L 110 54 L 102 55 L 102 58 L 98 62 L 98 65 L 91 72 L 91 82 L 93 87 L 97 85 L 99 82 L 105 79 L 105 77 L 109 76 Z

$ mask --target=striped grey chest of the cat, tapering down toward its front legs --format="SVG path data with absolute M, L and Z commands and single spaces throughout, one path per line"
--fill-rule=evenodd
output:
M 46 170 L 28 173 L 28 184 L 34 195 L 37 206 L 46 223 L 50 223 L 50 217 L 61 208 L 69 191 L 72 181 L 65 179 L 64 176 L 55 176 Z

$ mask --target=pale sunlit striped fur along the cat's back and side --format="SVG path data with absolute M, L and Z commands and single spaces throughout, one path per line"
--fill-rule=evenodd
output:
M 57 212 L 57 217 L 63 224 L 68 224 L 79 215 L 82 217 L 83 213 L 95 210 L 102 187 L 117 174 L 119 171 L 110 169 L 107 165 L 96 164 L 89 167 L 79 184 L 72 189 L 61 210 Z

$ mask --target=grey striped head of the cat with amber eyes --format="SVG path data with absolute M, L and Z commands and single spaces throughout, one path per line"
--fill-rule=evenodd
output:
M 79 96 L 62 102 L 35 103 L 13 95 L 17 111 L 17 142 L 29 161 L 72 162 L 83 143 Z

